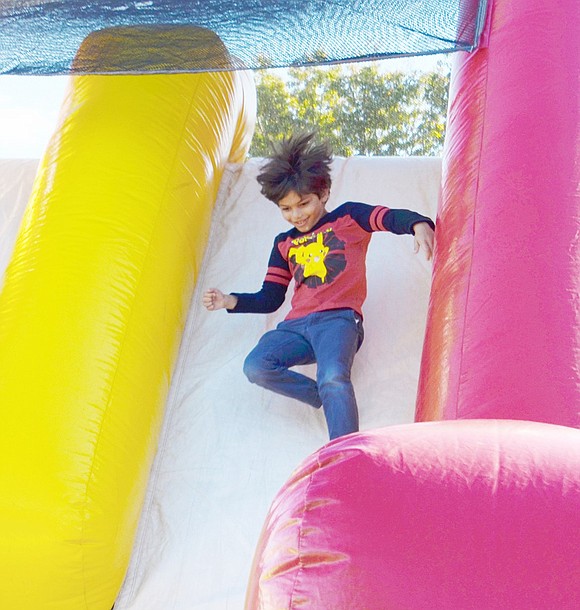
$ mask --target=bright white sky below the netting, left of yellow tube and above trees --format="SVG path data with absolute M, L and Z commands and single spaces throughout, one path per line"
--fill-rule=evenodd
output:
M 442 55 L 388 59 L 387 71 L 429 71 Z M 0 75 L 0 159 L 38 159 L 57 125 L 68 76 Z

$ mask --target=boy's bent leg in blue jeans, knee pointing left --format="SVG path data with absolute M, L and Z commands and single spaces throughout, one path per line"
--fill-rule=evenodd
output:
M 314 352 L 300 334 L 286 330 L 290 326 L 300 330 L 300 321 L 282 322 L 278 328 L 265 333 L 244 362 L 244 374 L 252 382 L 267 390 L 295 398 L 312 407 L 322 404 L 316 382 L 306 375 L 288 370 L 299 364 L 312 364 Z

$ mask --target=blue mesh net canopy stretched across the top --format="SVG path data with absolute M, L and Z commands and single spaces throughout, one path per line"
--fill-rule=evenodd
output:
M 199 72 L 471 51 L 485 5 L 486 0 L 2 0 L 0 74 Z

